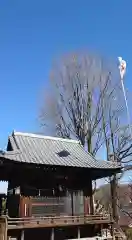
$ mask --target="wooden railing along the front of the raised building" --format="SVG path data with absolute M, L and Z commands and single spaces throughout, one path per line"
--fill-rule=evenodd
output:
M 8 229 L 110 223 L 109 215 L 8 218 Z

